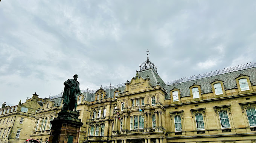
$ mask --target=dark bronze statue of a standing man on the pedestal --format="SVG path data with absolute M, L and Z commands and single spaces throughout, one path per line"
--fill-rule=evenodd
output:
M 66 82 L 64 82 L 64 91 L 62 98 L 63 100 L 63 107 L 61 110 L 71 110 L 75 108 L 75 112 L 78 112 L 76 110 L 77 106 L 77 96 L 81 95 L 81 90 L 79 88 L 79 82 L 77 81 L 78 75 L 74 75 L 74 79 L 68 79 Z

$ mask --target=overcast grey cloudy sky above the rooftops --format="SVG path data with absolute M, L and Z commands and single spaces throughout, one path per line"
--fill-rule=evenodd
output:
M 256 62 L 255 0 L 2 0 L 0 104 L 131 80 L 164 81 Z

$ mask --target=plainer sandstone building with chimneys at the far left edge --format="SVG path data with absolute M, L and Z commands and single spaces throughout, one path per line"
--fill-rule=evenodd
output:
M 44 99 L 33 94 L 25 103 L 15 106 L 2 104 L 0 108 L 0 143 L 24 143 L 30 138 L 34 128 L 35 113 L 41 108 Z

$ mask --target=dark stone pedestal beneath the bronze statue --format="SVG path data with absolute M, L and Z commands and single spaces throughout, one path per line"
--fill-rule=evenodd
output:
M 64 110 L 58 117 L 50 121 L 52 124 L 49 143 L 78 143 L 80 128 L 83 125 L 79 114 L 74 111 Z

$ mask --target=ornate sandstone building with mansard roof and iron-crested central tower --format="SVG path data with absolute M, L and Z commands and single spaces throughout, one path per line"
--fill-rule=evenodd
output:
M 79 143 L 256 143 L 255 83 L 255 63 L 164 82 L 147 59 L 130 81 L 78 96 Z M 31 138 L 49 139 L 60 110 L 47 100 Z

